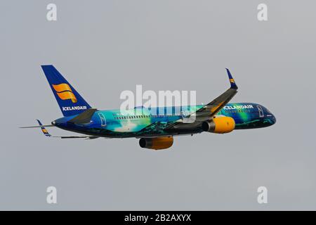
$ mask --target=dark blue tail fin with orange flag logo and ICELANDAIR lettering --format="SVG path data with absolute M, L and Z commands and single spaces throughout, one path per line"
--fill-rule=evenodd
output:
M 91 106 L 82 98 L 79 93 L 62 77 L 60 72 L 53 65 L 41 65 L 51 90 L 55 95 L 62 115 L 65 117 L 77 115 L 84 112 Z

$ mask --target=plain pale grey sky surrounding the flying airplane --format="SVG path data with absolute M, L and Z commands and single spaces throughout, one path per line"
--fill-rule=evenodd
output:
M 55 3 L 58 21 L 46 20 Z M 268 21 L 257 6 L 268 5 Z M 1 210 L 315 210 L 314 1 L 1 1 Z M 46 139 L 62 114 L 40 65 L 53 64 L 94 107 L 119 94 L 239 86 L 232 102 L 265 105 L 277 123 L 176 137 L 154 152 L 137 139 Z M 51 128 L 51 134 L 71 134 Z M 58 204 L 46 203 L 46 188 Z M 268 204 L 256 202 L 258 186 Z

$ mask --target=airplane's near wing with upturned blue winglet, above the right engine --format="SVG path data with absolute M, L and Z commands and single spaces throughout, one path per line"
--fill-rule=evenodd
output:
M 196 112 L 191 113 L 189 117 L 186 118 L 189 122 L 184 122 L 183 119 L 181 119 L 169 125 L 169 127 L 167 128 L 179 129 L 183 127 L 185 129 L 188 129 L 190 127 L 198 127 L 199 124 L 201 124 L 205 120 L 209 120 L 211 117 L 216 115 L 216 113 L 218 113 L 218 111 L 220 111 L 232 99 L 232 97 L 237 94 L 238 87 L 235 84 L 235 80 L 232 78 L 230 70 L 228 70 L 227 68 L 226 70 L 228 73 L 228 78 L 230 80 L 230 89 L 225 91 L 223 94 L 215 98 L 210 103 L 204 105 L 202 108 L 199 108 L 199 110 L 197 110 Z M 192 119 L 191 122 L 190 119 Z

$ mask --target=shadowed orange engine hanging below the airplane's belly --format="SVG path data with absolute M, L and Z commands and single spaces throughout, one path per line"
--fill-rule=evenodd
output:
M 172 144 L 173 144 L 173 136 L 164 136 L 161 138 L 152 138 L 152 139 L 141 138 L 139 140 L 140 147 L 154 149 L 154 150 L 170 148 Z

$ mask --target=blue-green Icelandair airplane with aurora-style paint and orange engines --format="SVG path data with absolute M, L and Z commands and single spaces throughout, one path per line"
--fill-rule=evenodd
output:
M 275 124 L 275 116 L 257 103 L 228 103 L 237 94 L 237 84 L 226 68 L 230 88 L 206 105 L 169 106 L 145 108 L 138 106 L 127 110 L 98 110 L 91 108 L 84 98 L 67 82 L 53 65 L 41 65 L 51 90 L 58 102 L 61 117 L 51 124 L 39 127 L 47 137 L 61 139 L 136 138 L 141 148 L 162 150 L 173 145 L 173 136 L 193 135 L 202 132 L 226 134 L 235 129 L 254 129 Z M 170 108 L 171 107 L 171 108 Z M 177 110 L 183 113 L 174 113 Z M 157 115 L 164 110 L 164 115 Z M 178 112 L 177 111 L 177 112 Z M 170 113 L 171 112 L 171 113 Z M 194 118 L 193 122 L 185 120 Z M 46 127 L 58 127 L 84 134 L 81 136 L 51 136 Z

